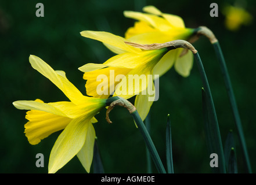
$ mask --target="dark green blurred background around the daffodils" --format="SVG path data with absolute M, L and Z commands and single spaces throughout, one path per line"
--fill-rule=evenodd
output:
M 44 4 L 44 17 L 35 16 L 37 3 Z M 67 78 L 83 94 L 85 80 L 78 67 L 87 62 L 102 63 L 114 56 L 102 43 L 80 35 L 81 31 L 107 31 L 124 36 L 134 20 L 123 16 L 124 10 L 142 12 L 154 5 L 164 13 L 181 16 L 186 27 L 205 25 L 217 36 L 228 66 L 253 172 L 256 171 L 255 103 L 255 24 L 241 25 L 236 31 L 225 27 L 222 9 L 225 3 L 244 6 L 253 16 L 255 1 L 214 1 L 218 17 L 210 16 L 211 1 L 1 1 L 0 2 L 0 172 L 47 173 L 52 146 L 60 132 L 30 145 L 24 135 L 26 110 L 13 105 L 17 100 L 42 99 L 45 102 L 67 101 L 65 95 L 48 79 L 35 71 L 28 57 L 42 58 L 55 70 L 66 71 Z M 244 162 L 228 96 L 213 47 L 200 38 L 194 47 L 199 51 L 208 76 L 217 110 L 222 143 L 230 129 L 236 141 L 238 171 L 244 173 Z M 201 105 L 201 80 L 194 65 L 187 78 L 174 68 L 160 78 L 160 98 L 150 111 L 151 135 L 165 165 L 165 128 L 171 115 L 172 146 L 175 173 L 211 173 L 205 143 Z M 134 99 L 131 99 L 134 102 Z M 146 148 L 131 115 L 117 107 L 110 113 L 113 124 L 104 119 L 104 110 L 94 124 L 104 171 L 107 173 L 146 173 Z M 37 153 L 44 154 L 44 168 L 35 166 Z M 153 172 L 157 172 L 153 165 Z M 85 173 L 77 157 L 58 173 Z

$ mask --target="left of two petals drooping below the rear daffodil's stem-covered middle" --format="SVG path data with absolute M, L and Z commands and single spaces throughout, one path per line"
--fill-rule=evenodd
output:
M 175 58 L 177 57 L 177 50 L 170 50 L 165 54 L 153 68 L 153 75 L 162 76 L 169 71 L 174 65 Z

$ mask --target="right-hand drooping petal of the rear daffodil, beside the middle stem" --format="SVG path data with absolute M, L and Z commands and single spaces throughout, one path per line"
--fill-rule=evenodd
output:
M 182 50 L 184 49 L 176 49 L 179 50 L 178 56 L 182 53 Z M 179 75 L 183 77 L 187 77 L 190 75 L 190 71 L 193 66 L 193 54 L 191 51 L 188 51 L 185 55 L 182 57 L 177 57 L 174 68 L 176 72 L 179 73 Z

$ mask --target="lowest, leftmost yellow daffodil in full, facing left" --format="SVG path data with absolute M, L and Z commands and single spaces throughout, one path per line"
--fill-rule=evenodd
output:
M 31 145 L 37 145 L 53 132 L 62 131 L 52 148 L 49 173 L 55 173 L 75 155 L 87 172 L 90 171 L 95 142 L 95 114 L 106 106 L 106 99 L 86 97 L 68 81 L 65 72 L 54 71 L 41 58 L 30 56 L 31 66 L 55 84 L 70 101 L 44 103 L 16 101 L 17 109 L 29 110 L 26 115 L 25 134 Z

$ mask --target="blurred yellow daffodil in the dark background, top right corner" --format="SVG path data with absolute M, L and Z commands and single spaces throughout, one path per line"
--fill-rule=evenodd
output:
M 248 25 L 253 20 L 253 16 L 245 9 L 226 5 L 223 9 L 225 18 L 225 26 L 230 31 L 237 31 L 241 25 Z

